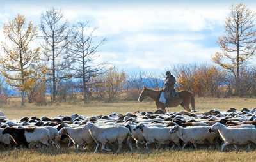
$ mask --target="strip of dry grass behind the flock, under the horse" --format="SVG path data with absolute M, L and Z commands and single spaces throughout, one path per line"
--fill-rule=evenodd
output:
M 200 112 L 209 111 L 212 108 L 227 110 L 228 108 L 255 108 L 256 98 L 196 98 L 196 109 Z M 47 116 L 55 117 L 56 115 L 71 115 L 72 113 L 90 115 L 103 115 L 111 112 L 125 114 L 126 112 L 155 111 L 156 106 L 153 102 L 136 102 L 129 101 L 123 103 L 102 103 L 92 102 L 84 105 L 83 103 L 53 103 L 52 105 L 36 106 L 35 104 L 26 103 L 25 107 L 20 107 L 18 99 L 11 99 L 10 104 L 0 105 L 0 110 L 10 119 L 19 119 L 24 116 Z M 169 108 L 170 112 L 179 112 L 182 107 Z

